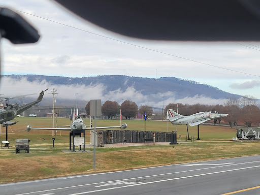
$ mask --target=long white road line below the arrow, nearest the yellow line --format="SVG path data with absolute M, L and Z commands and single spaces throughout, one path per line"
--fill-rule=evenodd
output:
M 240 168 L 240 169 L 232 169 L 232 170 L 226 170 L 226 171 L 218 171 L 218 172 L 213 172 L 213 173 L 205 173 L 205 174 L 199 174 L 199 175 L 191 175 L 191 176 L 185 176 L 185 177 L 179 177 L 179 178 L 171 178 L 171 179 L 150 181 L 150 182 L 146 182 L 146 183 L 138 183 L 138 184 L 125 185 L 125 186 L 120 186 L 120 187 L 111 187 L 111 188 L 106 188 L 106 189 L 98 189 L 98 190 L 92 190 L 92 191 L 85 191 L 85 192 L 80 192 L 80 193 L 72 193 L 72 194 L 68 194 L 68 195 L 79 195 L 79 194 L 85 194 L 85 193 L 93 193 L 93 192 L 99 192 L 99 191 L 107 191 L 107 190 L 111 190 L 111 189 L 119 189 L 119 188 L 124 188 L 124 187 L 132 187 L 132 186 L 136 186 L 136 185 L 146 185 L 146 184 L 151 184 L 151 183 L 159 183 L 159 182 L 164 182 L 164 181 L 172 181 L 172 180 L 177 180 L 177 179 L 198 177 L 198 176 L 203 176 L 203 175 L 212 175 L 212 174 L 217 174 L 217 173 L 224 173 L 224 172 L 230 172 L 230 171 L 238 171 L 238 170 L 251 169 L 251 168 L 257 168 L 257 167 L 260 167 L 260 165 L 259 165 L 259 166 L 254 166 L 254 167 L 245 167 L 245 168 Z

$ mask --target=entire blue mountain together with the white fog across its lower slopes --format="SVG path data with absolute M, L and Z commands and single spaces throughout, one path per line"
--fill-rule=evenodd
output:
M 175 77 L 158 79 L 128 77 L 123 75 L 104 75 L 96 77 L 56 77 L 44 75 L 8 75 L 2 76 L 0 93 L 3 96 L 18 96 L 39 93 L 45 90 L 41 105 L 52 106 L 55 88 L 57 99 L 55 106 L 85 106 L 91 99 L 116 101 L 120 105 L 125 100 L 161 107 L 169 103 L 182 104 L 223 104 L 231 94 L 216 87 L 200 84 L 196 81 L 182 80 Z M 77 95 L 75 95 L 77 94 Z M 36 99 L 37 95 L 26 96 L 26 101 Z

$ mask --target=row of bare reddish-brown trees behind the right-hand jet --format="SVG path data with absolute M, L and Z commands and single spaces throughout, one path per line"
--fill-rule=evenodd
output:
M 87 103 L 85 110 L 86 114 L 89 115 L 90 102 Z M 207 105 L 207 104 L 168 104 L 165 108 L 161 110 L 161 119 L 166 119 L 167 110 L 173 109 L 177 111 L 181 115 L 191 115 L 194 113 L 202 112 L 202 111 L 217 111 L 218 113 L 229 114 L 227 117 L 221 119 L 214 119 L 213 122 L 216 124 L 220 123 L 221 120 L 228 122 L 231 127 L 237 125 L 238 122 L 244 123 L 247 127 L 251 125 L 257 125 L 260 123 L 260 109 L 257 105 L 257 100 L 250 95 L 243 96 L 242 98 L 236 98 L 236 96 L 232 96 L 223 105 Z M 117 102 L 106 101 L 102 107 L 101 111 L 104 116 L 107 116 L 108 119 L 112 119 L 113 117 L 120 114 L 125 117 L 125 119 L 134 118 L 138 113 L 144 115 L 146 112 L 146 116 L 150 117 L 154 115 L 154 110 L 151 106 L 138 105 L 132 101 L 124 101 L 121 105 Z M 158 115 L 159 111 L 157 111 Z

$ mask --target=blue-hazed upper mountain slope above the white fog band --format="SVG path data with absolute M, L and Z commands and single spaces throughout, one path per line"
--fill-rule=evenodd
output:
M 212 99 L 227 99 L 230 96 L 235 95 L 222 91 L 213 86 L 200 84 L 196 81 L 181 80 L 175 77 L 162 77 L 159 79 L 128 77 L 123 75 L 104 75 L 82 78 L 44 75 L 9 75 L 3 77 L 9 77 L 13 79 L 27 78 L 29 82 L 42 82 L 45 80 L 53 85 L 78 84 L 87 86 L 91 84 L 96 85 L 102 83 L 106 86 L 106 89 L 103 91 L 103 95 L 118 89 L 120 89 L 122 92 L 125 92 L 128 87 L 134 87 L 136 91 L 140 91 L 143 95 L 166 93 L 171 91 L 174 92 L 175 99 L 182 99 L 187 96 L 193 97 L 195 95 L 205 95 Z

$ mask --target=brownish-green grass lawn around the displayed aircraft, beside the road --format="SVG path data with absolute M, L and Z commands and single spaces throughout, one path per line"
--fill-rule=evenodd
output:
M 189 135 L 194 136 L 194 142 L 178 144 L 175 147 L 173 145 L 98 147 L 96 169 L 93 170 L 93 153 L 61 151 L 69 150 L 69 132 L 57 132 L 54 148 L 52 148 L 52 131 L 36 129 L 32 129 L 31 132 L 25 131 L 28 124 L 32 127 L 52 127 L 51 118 L 19 117 L 17 120 L 19 122 L 11 126 L 8 131 L 8 140 L 13 147 L 0 151 L 0 183 L 260 154 L 260 142 L 230 141 L 236 135 L 235 128 L 200 125 L 202 140 L 197 141 L 197 126 L 188 126 Z M 70 125 L 71 121 L 68 118 L 58 118 L 57 123 Z M 84 119 L 84 123 L 87 125 L 90 120 Z M 123 120 L 122 123 L 127 123 L 129 130 L 144 131 L 143 120 Z M 120 125 L 119 120 L 96 120 L 96 126 L 117 125 Z M 167 128 L 165 121 L 146 121 L 146 131 L 167 132 Z M 169 132 L 175 130 L 176 126 L 169 123 Z M 5 128 L 2 128 L 2 133 L 4 132 Z M 181 141 L 186 140 L 186 125 L 178 125 L 177 141 L 179 135 Z M 15 140 L 26 138 L 30 140 L 30 152 L 21 151 L 16 154 Z M 0 134 L 0 139 L 6 140 L 6 135 Z M 86 134 L 86 142 L 89 143 L 89 131 Z M 87 150 L 91 151 L 93 148 Z

